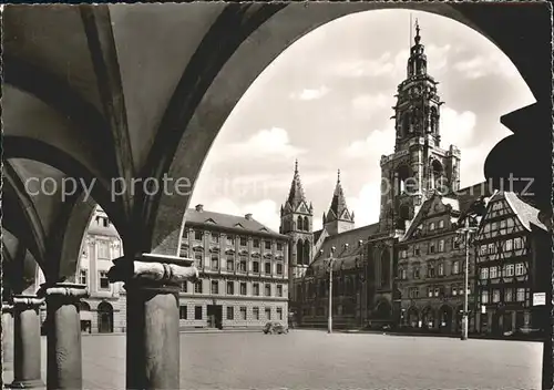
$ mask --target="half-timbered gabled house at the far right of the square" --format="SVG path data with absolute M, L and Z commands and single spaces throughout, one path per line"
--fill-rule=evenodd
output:
M 476 328 L 482 333 L 525 333 L 547 324 L 544 304 L 533 301 L 533 294 L 551 288 L 548 276 L 535 271 L 537 261 L 552 256 L 551 237 L 537 216 L 509 192 L 497 192 L 488 205 L 475 237 Z

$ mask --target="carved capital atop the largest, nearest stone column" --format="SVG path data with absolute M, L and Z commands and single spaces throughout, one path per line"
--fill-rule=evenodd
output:
M 130 260 L 125 257 L 115 259 L 107 273 L 111 283 L 145 281 L 178 286 L 185 280 L 196 280 L 198 269 L 194 259 L 178 256 L 142 254 Z

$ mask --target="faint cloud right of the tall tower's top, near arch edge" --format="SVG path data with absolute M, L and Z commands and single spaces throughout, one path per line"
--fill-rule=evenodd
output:
M 470 80 L 490 75 L 506 79 L 520 78 L 520 73 L 514 64 L 505 55 L 497 52 L 480 54 L 469 60 L 459 61 L 453 65 L 453 69 Z

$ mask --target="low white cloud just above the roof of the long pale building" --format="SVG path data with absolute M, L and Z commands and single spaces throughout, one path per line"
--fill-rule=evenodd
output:
M 218 198 L 205 204 L 209 212 L 224 213 L 237 216 L 252 214 L 252 217 L 274 232 L 279 232 L 280 216 L 277 204 L 271 199 L 261 199 L 254 203 L 238 204 L 228 197 Z

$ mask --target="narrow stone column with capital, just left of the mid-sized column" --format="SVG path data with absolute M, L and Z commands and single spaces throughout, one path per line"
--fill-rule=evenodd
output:
M 41 379 L 39 308 L 37 296 L 13 296 L 13 382 L 10 388 L 43 387 Z

